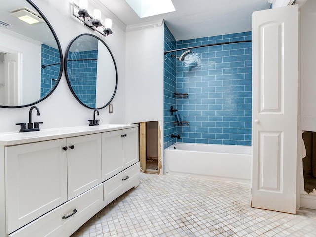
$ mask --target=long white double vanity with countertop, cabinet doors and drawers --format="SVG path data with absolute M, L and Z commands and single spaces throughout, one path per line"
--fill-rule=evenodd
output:
M 138 125 L 0 134 L 0 236 L 68 237 L 139 184 Z

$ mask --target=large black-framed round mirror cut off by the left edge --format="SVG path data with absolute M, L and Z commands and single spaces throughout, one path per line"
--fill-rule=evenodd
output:
M 2 2 L 0 39 L 0 107 L 27 107 L 51 95 L 63 71 L 62 50 L 31 0 Z

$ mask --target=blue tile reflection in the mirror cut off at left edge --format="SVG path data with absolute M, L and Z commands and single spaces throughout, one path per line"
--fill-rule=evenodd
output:
M 56 65 L 51 65 L 56 64 Z M 48 45 L 41 45 L 41 65 L 51 65 L 41 68 L 40 97 L 44 97 L 54 87 L 60 71 L 59 50 Z

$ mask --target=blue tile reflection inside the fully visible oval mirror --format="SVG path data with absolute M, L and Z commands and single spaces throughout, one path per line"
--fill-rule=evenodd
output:
M 72 52 L 67 73 L 71 86 L 85 105 L 95 108 L 98 50 Z

